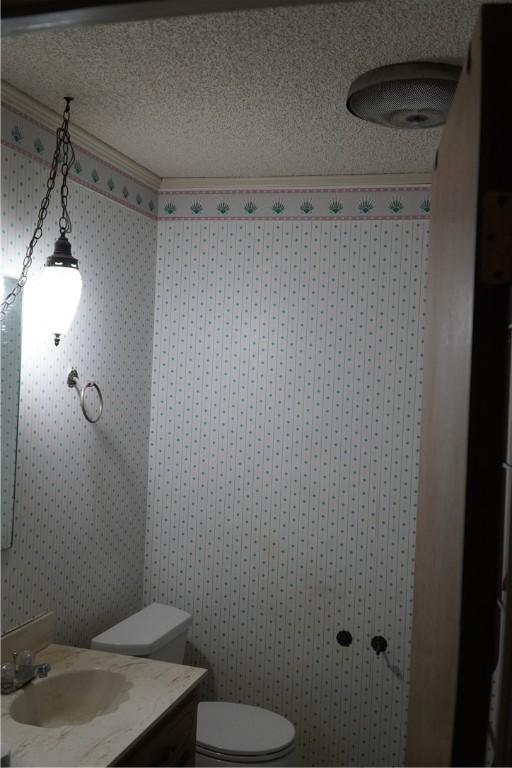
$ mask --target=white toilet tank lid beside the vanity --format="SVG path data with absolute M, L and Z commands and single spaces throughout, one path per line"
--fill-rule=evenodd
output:
M 186 611 L 171 605 L 151 603 L 94 637 L 91 648 L 129 656 L 151 656 L 177 635 L 186 632 L 191 624 L 192 616 Z

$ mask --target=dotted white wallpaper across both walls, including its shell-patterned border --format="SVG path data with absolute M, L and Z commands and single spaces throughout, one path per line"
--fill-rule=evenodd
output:
M 47 172 L 22 129 L 2 159 L 10 275 Z M 53 609 L 86 645 L 142 599 L 177 605 L 204 697 L 289 717 L 306 765 L 403 764 L 429 190 L 371 208 L 241 190 L 216 212 L 192 190 L 190 216 L 166 198 L 157 222 L 112 180 L 71 183 L 84 289 L 60 347 L 30 310 L 57 198 L 25 291 L 3 630 Z M 95 426 L 72 366 L 102 388 Z

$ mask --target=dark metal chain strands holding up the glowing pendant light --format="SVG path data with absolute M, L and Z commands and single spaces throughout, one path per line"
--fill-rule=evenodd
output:
M 59 227 L 61 235 L 71 232 L 71 219 L 67 209 L 68 200 L 68 185 L 67 175 L 70 166 L 73 165 L 75 159 L 75 153 L 73 145 L 71 144 L 71 138 L 69 136 L 69 116 L 70 116 L 70 102 L 71 97 L 66 97 L 66 107 L 62 116 L 62 125 L 57 128 L 55 152 L 53 153 L 52 163 L 50 167 L 50 174 L 46 181 L 46 192 L 39 207 L 39 213 L 37 216 L 37 223 L 34 229 L 32 239 L 27 246 L 25 258 L 23 259 L 23 267 L 21 275 L 16 282 L 14 288 L 7 294 L 0 306 L 0 316 L 4 317 L 9 307 L 16 301 L 16 297 L 23 290 L 23 286 L 27 282 L 28 270 L 32 264 L 32 254 L 36 247 L 37 241 L 43 234 L 43 223 L 48 214 L 48 206 L 50 205 L 50 199 L 53 189 L 55 187 L 55 180 L 59 169 L 59 162 L 62 160 L 62 187 L 60 191 L 60 200 L 62 205 L 62 213 L 59 219 Z

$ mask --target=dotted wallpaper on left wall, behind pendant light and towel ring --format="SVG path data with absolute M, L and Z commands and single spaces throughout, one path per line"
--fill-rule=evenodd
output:
M 15 275 L 32 234 L 47 167 L 2 157 L 2 272 Z M 142 604 L 156 222 L 70 184 L 73 253 L 83 292 L 59 347 L 31 315 L 53 250 L 54 194 L 23 300 L 13 547 L 2 553 L 2 629 L 47 609 L 58 639 L 90 638 Z M 34 291 L 34 292 L 33 292 Z M 85 421 L 66 378 L 94 379 L 105 407 Z

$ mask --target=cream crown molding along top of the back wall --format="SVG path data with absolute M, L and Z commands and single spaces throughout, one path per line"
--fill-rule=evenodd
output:
M 312 189 L 316 187 L 417 187 L 432 183 L 430 173 L 397 173 L 359 176 L 262 176 L 260 178 L 162 179 L 160 192 L 210 189 Z

